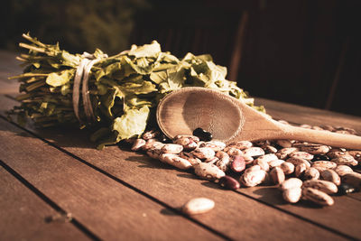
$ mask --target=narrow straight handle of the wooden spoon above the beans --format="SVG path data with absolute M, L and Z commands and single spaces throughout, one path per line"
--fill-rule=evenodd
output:
M 280 135 L 280 137 L 284 139 L 300 140 L 310 143 L 327 144 L 334 147 L 361 150 L 361 137 L 353 134 L 338 134 L 328 131 L 282 125 L 282 134 Z

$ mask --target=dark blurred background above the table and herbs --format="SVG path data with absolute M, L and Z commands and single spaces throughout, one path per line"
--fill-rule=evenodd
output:
M 23 32 L 71 52 L 157 40 L 210 53 L 251 96 L 361 116 L 359 0 L 5 0 L 0 48 Z M 4 24 L 5 23 L 5 24 Z

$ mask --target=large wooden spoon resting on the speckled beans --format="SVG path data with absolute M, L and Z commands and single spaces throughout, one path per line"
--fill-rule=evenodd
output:
M 162 132 L 173 138 L 200 127 L 225 143 L 240 140 L 299 140 L 361 150 L 361 137 L 283 125 L 243 101 L 210 88 L 180 88 L 163 97 L 157 108 Z

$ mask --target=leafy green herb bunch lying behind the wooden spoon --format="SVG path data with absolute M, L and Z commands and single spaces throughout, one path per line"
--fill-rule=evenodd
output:
M 154 123 L 153 113 L 159 100 L 171 91 L 190 86 L 216 88 L 251 107 L 254 99 L 248 97 L 236 82 L 226 79 L 227 68 L 216 65 L 210 55 L 187 53 L 182 59 L 162 52 L 158 42 L 107 57 L 102 51 L 93 54 L 70 54 L 60 50 L 59 44 L 39 42 L 29 34 L 20 43 L 28 49 L 18 60 L 23 61 L 23 74 L 11 77 L 21 82 L 20 107 L 14 107 L 18 121 L 30 117 L 36 125 L 95 126 L 91 139 L 102 149 L 106 144 L 143 134 L 147 125 Z M 79 95 L 74 79 L 79 65 L 85 59 L 97 60 L 88 72 L 88 90 Z M 81 84 L 81 83 L 80 83 Z M 84 82 L 82 83 L 84 85 Z M 79 118 L 75 115 L 74 93 L 79 95 Z M 90 107 L 84 105 L 89 99 Z M 86 102 L 84 102 L 86 103 Z M 255 107 L 264 112 L 264 107 Z M 89 123 L 87 110 L 93 121 Z

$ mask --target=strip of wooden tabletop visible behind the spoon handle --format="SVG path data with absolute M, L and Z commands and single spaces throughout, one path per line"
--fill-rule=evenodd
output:
M 255 105 L 263 105 L 267 113 L 275 119 L 283 119 L 294 124 L 333 125 L 354 128 L 361 134 L 361 117 L 350 116 L 312 107 L 301 107 L 265 98 L 255 98 Z

